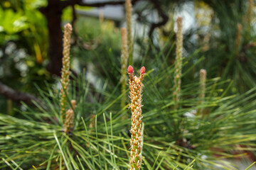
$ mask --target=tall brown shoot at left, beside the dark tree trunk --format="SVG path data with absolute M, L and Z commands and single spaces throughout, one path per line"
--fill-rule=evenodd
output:
M 63 69 L 61 70 L 61 89 L 60 89 L 60 115 L 62 122 L 65 121 L 65 109 L 67 106 L 68 85 L 70 77 L 70 37 L 72 33 L 72 26 L 67 23 L 64 26 L 63 37 Z

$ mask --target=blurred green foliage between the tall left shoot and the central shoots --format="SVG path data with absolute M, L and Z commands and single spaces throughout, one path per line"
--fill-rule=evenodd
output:
M 80 17 L 75 25 L 82 43 L 73 47 L 73 57 L 83 68 L 101 79 L 106 78 L 115 86 L 119 82 L 121 36 L 113 21 L 99 21 L 95 18 Z M 105 69 L 105 66 L 109 66 Z

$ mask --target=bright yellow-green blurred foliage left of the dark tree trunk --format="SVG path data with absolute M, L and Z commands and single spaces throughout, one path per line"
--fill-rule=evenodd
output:
M 44 60 L 47 57 L 46 20 L 38 7 L 46 1 L 1 1 L 1 69 L 4 84 L 34 92 L 33 83 L 50 80 Z M 42 86 L 43 87 L 43 86 Z

